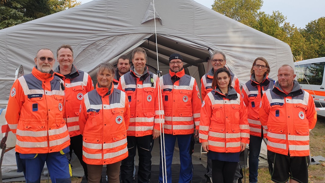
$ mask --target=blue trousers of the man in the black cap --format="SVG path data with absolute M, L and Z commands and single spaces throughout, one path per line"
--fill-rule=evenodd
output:
M 164 182 L 162 181 L 162 170 L 165 167 L 162 167 L 162 161 L 164 158 L 162 156 L 163 152 L 160 152 L 160 167 L 159 167 L 159 182 L 160 183 L 171 183 L 172 182 L 172 161 L 173 161 L 173 153 L 175 148 L 176 138 L 178 141 L 179 148 L 179 159 L 181 163 L 181 168 L 179 171 L 179 183 L 188 183 L 191 182 L 193 177 L 193 165 L 192 165 L 192 155 L 190 154 L 190 144 L 191 137 L 193 134 L 188 135 L 172 135 L 172 134 L 164 134 L 165 138 L 165 157 L 166 157 L 166 174 L 164 173 L 164 177 L 167 175 L 167 180 L 164 178 Z M 159 141 L 160 142 L 160 141 Z M 161 143 L 160 143 L 161 147 Z

